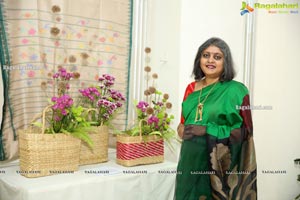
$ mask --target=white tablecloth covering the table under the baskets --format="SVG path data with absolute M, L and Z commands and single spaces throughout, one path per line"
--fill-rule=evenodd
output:
M 74 174 L 26 178 L 18 165 L 0 167 L 0 200 L 171 200 L 177 163 L 123 167 L 109 162 L 81 166 Z

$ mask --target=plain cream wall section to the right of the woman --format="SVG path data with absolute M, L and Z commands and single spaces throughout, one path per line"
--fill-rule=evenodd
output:
M 299 2 L 300 1 L 287 1 Z M 300 10 L 255 10 L 253 105 L 260 199 L 294 199 L 300 192 L 293 160 L 300 157 Z M 266 174 L 262 170 L 284 170 Z

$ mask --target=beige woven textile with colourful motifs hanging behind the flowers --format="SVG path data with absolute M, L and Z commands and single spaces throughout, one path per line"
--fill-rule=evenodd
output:
M 55 91 L 52 75 L 59 66 L 80 73 L 71 82 L 72 96 L 108 73 L 116 78 L 114 89 L 127 97 L 130 0 L 4 0 L 1 7 L 10 52 L 10 63 L 2 66 L 8 95 L 1 160 L 18 157 L 16 130 L 26 128 L 45 108 Z M 113 122 L 118 129 L 125 127 L 126 109 Z

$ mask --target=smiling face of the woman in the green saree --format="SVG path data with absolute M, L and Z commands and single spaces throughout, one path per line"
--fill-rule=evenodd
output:
M 200 68 L 206 78 L 219 78 L 224 70 L 224 55 L 213 45 L 207 47 L 201 54 Z

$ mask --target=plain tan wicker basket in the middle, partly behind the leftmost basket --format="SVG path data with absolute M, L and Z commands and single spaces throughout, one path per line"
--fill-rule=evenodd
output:
M 108 161 L 108 127 L 98 126 L 89 132 L 94 146 L 89 147 L 82 142 L 80 146 L 80 165 L 102 163 Z

